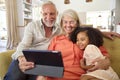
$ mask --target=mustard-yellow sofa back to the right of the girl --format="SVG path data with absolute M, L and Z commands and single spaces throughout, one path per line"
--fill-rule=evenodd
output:
M 110 40 L 104 38 L 104 46 L 110 54 L 111 66 L 120 77 L 120 38 Z

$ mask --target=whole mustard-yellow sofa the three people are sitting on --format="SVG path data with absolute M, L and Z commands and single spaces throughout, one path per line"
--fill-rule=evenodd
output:
M 110 54 L 111 66 L 120 77 L 120 39 L 110 40 L 104 38 L 104 46 Z M 8 50 L 0 53 L 0 77 L 3 78 L 11 62 L 11 55 L 15 50 Z

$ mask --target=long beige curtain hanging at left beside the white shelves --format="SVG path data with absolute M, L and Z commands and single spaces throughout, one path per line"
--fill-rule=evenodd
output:
M 17 5 L 16 0 L 6 0 L 7 13 L 7 49 L 15 49 L 19 43 L 17 27 Z

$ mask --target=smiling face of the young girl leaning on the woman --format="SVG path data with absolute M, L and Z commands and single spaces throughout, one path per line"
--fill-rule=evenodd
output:
M 76 44 L 78 45 L 78 47 L 80 49 L 85 49 L 86 48 L 86 46 L 89 44 L 89 39 L 88 39 L 88 36 L 87 36 L 86 32 L 79 32 L 77 34 Z

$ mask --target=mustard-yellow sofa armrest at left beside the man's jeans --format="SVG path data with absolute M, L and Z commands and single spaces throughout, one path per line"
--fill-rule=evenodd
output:
M 8 50 L 0 53 L 0 77 L 3 78 L 6 74 L 9 64 L 12 60 L 11 55 L 15 50 Z

